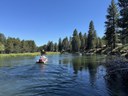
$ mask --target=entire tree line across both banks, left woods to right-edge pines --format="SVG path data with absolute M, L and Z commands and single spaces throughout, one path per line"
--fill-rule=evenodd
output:
M 0 52 L 19 53 L 45 51 L 80 52 L 90 49 L 111 48 L 113 50 L 119 44 L 128 44 L 128 0 L 111 1 L 107 8 L 105 21 L 105 35 L 98 37 L 94 22 L 90 21 L 88 33 L 82 34 L 74 29 L 72 36 L 59 38 L 58 43 L 48 41 L 47 44 L 36 47 L 33 40 L 20 40 L 18 38 L 5 38 L 0 34 Z

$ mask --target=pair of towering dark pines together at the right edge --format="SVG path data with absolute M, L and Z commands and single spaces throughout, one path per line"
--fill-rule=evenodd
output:
M 128 0 L 111 1 L 105 21 L 107 47 L 114 49 L 118 44 L 128 43 Z

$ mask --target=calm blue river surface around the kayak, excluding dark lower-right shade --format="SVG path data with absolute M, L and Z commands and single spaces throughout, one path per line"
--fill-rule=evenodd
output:
M 105 80 L 104 56 L 49 55 L 0 59 L 0 96 L 127 96 L 126 88 Z

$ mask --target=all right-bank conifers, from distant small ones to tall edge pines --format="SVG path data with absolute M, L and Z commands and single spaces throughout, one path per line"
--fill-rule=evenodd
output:
M 91 21 L 87 35 L 75 29 L 71 37 L 59 39 L 58 49 L 55 48 L 52 41 L 45 45 L 45 49 L 47 51 L 78 52 L 106 46 L 113 50 L 119 45 L 128 44 L 128 0 L 118 0 L 117 3 L 114 0 L 111 1 L 107 8 L 104 34 L 102 38 L 98 37 L 94 23 Z

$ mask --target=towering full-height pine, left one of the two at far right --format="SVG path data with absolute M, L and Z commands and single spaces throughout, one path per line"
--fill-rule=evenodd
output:
M 105 27 L 106 27 L 106 40 L 107 40 L 107 45 L 111 47 L 111 49 L 114 49 L 116 47 L 116 34 L 117 34 L 117 29 L 118 29 L 118 10 L 117 6 L 114 2 L 114 0 L 111 1 L 111 4 L 108 7 L 107 10 L 108 14 L 106 15 L 107 21 L 105 22 Z

